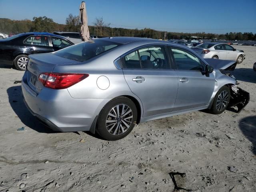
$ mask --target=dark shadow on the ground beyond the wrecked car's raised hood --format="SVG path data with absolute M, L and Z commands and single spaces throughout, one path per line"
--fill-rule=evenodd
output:
M 236 68 L 231 74 L 234 75 L 238 81 L 256 83 L 256 72 L 253 68 Z

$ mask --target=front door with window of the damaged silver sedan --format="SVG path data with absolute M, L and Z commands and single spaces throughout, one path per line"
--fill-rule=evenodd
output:
M 201 71 L 205 64 L 194 53 L 183 48 L 170 47 L 170 53 L 178 74 L 178 94 L 174 111 L 206 106 L 214 91 L 214 74 Z

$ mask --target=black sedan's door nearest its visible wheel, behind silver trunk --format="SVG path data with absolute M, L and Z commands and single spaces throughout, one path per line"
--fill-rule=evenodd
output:
M 49 44 L 49 36 L 33 35 L 24 40 L 25 52 L 30 54 L 53 52 L 52 46 Z

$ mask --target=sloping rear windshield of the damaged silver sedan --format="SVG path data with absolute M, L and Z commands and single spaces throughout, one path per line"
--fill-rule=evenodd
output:
M 53 54 L 63 58 L 82 62 L 120 45 L 121 44 L 119 43 L 105 40 L 90 40 L 70 46 Z

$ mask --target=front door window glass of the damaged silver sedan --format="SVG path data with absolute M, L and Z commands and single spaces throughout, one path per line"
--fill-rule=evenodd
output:
M 202 63 L 194 54 L 180 49 L 172 48 L 177 70 L 203 70 Z

